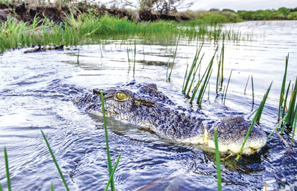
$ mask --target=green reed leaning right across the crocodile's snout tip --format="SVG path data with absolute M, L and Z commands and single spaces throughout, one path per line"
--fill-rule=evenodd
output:
M 260 103 L 260 105 L 259 105 L 259 107 L 258 107 L 258 109 L 256 111 L 256 114 L 255 114 L 255 116 L 254 116 L 254 118 L 253 118 L 253 120 L 252 120 L 252 122 L 251 122 L 251 124 L 250 124 L 250 126 L 248 128 L 247 135 L 246 135 L 245 140 L 244 140 L 244 142 L 242 144 L 242 147 L 241 147 L 241 149 L 240 149 L 240 151 L 239 151 L 239 153 L 238 153 L 238 155 L 236 157 L 236 160 L 240 159 L 241 153 L 242 153 L 242 151 L 244 149 L 245 144 L 247 143 L 247 139 L 248 139 L 248 136 L 249 136 L 249 134 L 250 134 L 250 132 L 251 132 L 251 130 L 253 128 L 253 125 L 255 124 L 255 122 L 259 122 L 259 120 L 261 118 L 261 114 L 262 114 L 266 99 L 268 97 L 268 94 L 270 92 L 271 86 L 272 86 L 272 83 L 270 84 L 269 88 L 267 89 L 266 94 L 263 96 L 263 99 L 262 99 L 262 101 L 261 101 L 261 103 Z

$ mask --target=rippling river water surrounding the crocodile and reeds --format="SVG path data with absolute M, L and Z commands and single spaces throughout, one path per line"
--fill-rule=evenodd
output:
M 258 106 L 269 84 L 272 90 L 260 126 L 267 135 L 277 123 L 278 98 L 290 52 L 288 80 L 297 71 L 297 22 L 265 21 L 227 24 L 256 41 L 226 43 L 224 77 L 226 86 L 233 69 L 225 105 L 216 97 L 216 68 L 210 79 L 201 110 L 208 116 L 243 114 L 246 118 Z M 0 56 L 0 183 L 6 188 L 3 146 L 6 146 L 13 190 L 64 190 L 40 130 L 49 140 L 71 191 L 101 191 L 108 180 L 102 119 L 78 109 L 72 98 L 93 88 L 123 85 L 131 80 L 156 83 L 174 102 L 190 108 L 181 94 L 186 64 L 195 56 L 193 46 L 178 47 L 171 82 L 166 82 L 170 46 L 134 45 L 113 42 L 80 47 L 78 50 L 51 50 L 28 53 L 26 49 L 8 51 Z M 174 49 L 175 47 L 173 47 Z M 205 43 L 201 71 L 209 63 L 216 46 Z M 172 59 L 171 59 L 172 61 Z M 216 63 L 217 61 L 215 61 Z M 216 64 L 215 64 L 216 65 Z M 255 103 L 250 81 L 253 76 Z M 221 93 L 220 93 L 221 94 Z M 197 105 L 193 105 L 198 109 Z M 156 135 L 107 120 L 109 148 L 113 164 L 122 154 L 114 175 L 118 191 L 193 191 L 217 190 L 214 155 L 199 148 L 167 143 Z M 290 142 L 291 134 L 284 135 Z M 258 154 L 240 162 L 231 158 L 221 164 L 223 190 L 253 191 L 297 189 L 297 147 L 287 147 L 274 135 Z

